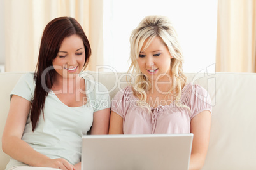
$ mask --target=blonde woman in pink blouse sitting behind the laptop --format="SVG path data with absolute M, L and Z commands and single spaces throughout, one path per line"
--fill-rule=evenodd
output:
M 210 137 L 211 99 L 204 88 L 187 83 L 172 23 L 165 16 L 146 16 L 130 43 L 129 71 L 136 81 L 113 99 L 109 134 L 193 133 L 190 169 L 201 169 Z

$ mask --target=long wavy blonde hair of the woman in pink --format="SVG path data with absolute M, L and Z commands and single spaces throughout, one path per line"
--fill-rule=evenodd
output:
M 175 96 L 175 103 L 177 106 L 183 106 L 180 102 L 181 90 L 187 82 L 187 76 L 184 74 L 183 65 L 183 53 L 181 51 L 180 44 L 178 42 L 178 36 L 174 30 L 173 24 L 166 16 L 146 16 L 132 31 L 130 37 L 131 51 L 130 60 L 131 65 L 128 72 L 132 72 L 136 75 L 135 83 L 132 84 L 134 95 L 138 96 L 140 100 L 138 105 L 142 107 L 150 108 L 146 103 L 146 91 L 151 88 L 151 83 L 148 78 L 141 73 L 137 59 L 139 53 L 146 39 L 148 42 L 145 48 L 152 42 L 152 39 L 159 36 L 166 44 L 169 53 L 173 58 L 171 59 L 171 89 L 169 93 Z M 144 49 L 145 49 L 144 48 Z

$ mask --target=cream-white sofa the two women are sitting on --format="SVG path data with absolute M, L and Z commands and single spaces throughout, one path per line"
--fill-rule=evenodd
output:
M 0 138 L 10 106 L 10 92 L 24 73 L 0 74 Z M 124 73 L 86 72 L 103 83 L 113 98 L 127 86 Z M 256 74 L 217 72 L 187 74 L 188 81 L 208 90 L 213 103 L 211 135 L 203 169 L 256 169 Z M 1 142 L 1 141 L 0 141 Z M 0 151 L 0 169 L 8 162 Z

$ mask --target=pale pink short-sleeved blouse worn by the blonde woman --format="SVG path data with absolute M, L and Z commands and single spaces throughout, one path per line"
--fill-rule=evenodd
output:
M 190 133 L 191 119 L 204 110 L 211 112 L 211 98 L 206 89 L 190 83 L 184 86 L 180 98 L 181 103 L 190 110 L 171 103 L 151 107 L 152 114 L 149 114 L 146 108 L 136 104 L 138 100 L 131 86 L 118 91 L 113 98 L 111 111 L 124 119 L 124 134 Z

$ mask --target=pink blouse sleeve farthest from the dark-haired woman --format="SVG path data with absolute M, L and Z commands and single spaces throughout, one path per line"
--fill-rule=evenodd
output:
M 190 95 L 190 108 L 191 119 L 204 110 L 211 112 L 211 97 L 206 89 L 199 85 L 192 86 L 192 92 Z

